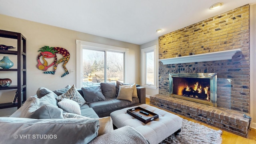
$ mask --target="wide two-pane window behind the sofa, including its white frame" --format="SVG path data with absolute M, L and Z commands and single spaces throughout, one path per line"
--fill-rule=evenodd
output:
M 76 40 L 76 49 L 77 88 L 125 81 L 129 49 L 80 40 Z

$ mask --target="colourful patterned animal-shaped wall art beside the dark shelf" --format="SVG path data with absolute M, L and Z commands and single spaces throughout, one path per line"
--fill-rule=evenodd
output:
M 38 52 L 41 52 L 40 54 L 38 54 L 37 56 L 37 67 L 39 70 L 44 70 L 46 71 L 49 67 L 51 67 L 52 65 L 54 65 L 53 71 L 47 71 L 44 72 L 44 74 L 55 74 L 56 68 L 58 66 L 58 64 L 64 62 L 62 64 L 62 68 L 65 70 L 65 73 L 62 74 L 61 77 L 66 76 L 68 73 L 68 69 L 66 68 L 66 64 L 68 63 L 68 60 L 70 58 L 70 54 L 68 52 L 68 50 L 64 49 L 64 48 L 60 48 L 60 47 L 49 47 L 49 46 L 44 46 L 42 48 L 40 48 L 40 50 L 38 50 Z M 60 58 L 59 60 L 57 60 L 57 56 L 56 54 L 61 54 L 62 58 Z M 42 64 L 40 62 L 40 57 L 43 56 L 43 61 L 44 64 Z M 54 62 L 52 62 L 51 64 L 48 65 L 48 62 L 44 59 L 44 58 L 55 58 Z

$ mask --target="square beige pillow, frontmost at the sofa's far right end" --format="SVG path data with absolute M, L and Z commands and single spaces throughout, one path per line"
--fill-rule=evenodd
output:
M 116 99 L 120 100 L 128 100 L 132 102 L 132 93 L 133 93 L 134 87 L 124 87 L 119 86 L 119 92 Z

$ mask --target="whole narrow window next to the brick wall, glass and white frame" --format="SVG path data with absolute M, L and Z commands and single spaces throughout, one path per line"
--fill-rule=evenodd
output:
M 142 53 L 142 85 L 157 87 L 157 49 L 156 45 L 141 50 Z

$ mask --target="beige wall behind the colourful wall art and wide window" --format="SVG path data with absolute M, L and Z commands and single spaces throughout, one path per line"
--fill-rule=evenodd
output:
M 22 20 L 10 16 L 0 14 L 0 29 L 13 32 L 22 33 L 27 40 L 27 97 L 36 94 L 39 87 L 46 87 L 51 90 L 63 88 L 66 85 L 76 84 L 76 72 L 60 77 L 64 70 L 61 66 L 57 67 L 56 73 L 43 74 L 37 65 L 38 50 L 42 46 L 62 47 L 70 52 L 70 60 L 66 65 L 67 69 L 76 70 L 76 39 L 94 42 L 99 44 L 106 44 L 118 46 L 122 48 L 129 48 L 129 64 L 128 73 L 129 78 L 127 83 L 140 84 L 140 46 L 109 38 L 103 38 L 73 30 L 67 30 L 46 24 Z M 5 44 L 0 39 L 0 44 Z M 5 44 L 7 45 L 7 44 Z M 2 55 L 0 55 L 2 59 Z M 52 70 L 52 67 L 48 70 Z M 2 74 L 2 73 L 1 73 Z M 1 76 L 0 76 L 1 77 Z M 12 96 L 0 96 L 0 103 L 4 101 L 12 101 Z M 0 116 L 6 116 L 14 111 L 14 108 L 0 110 Z

